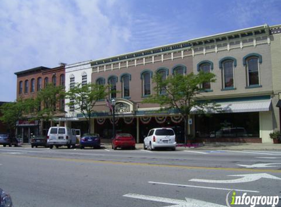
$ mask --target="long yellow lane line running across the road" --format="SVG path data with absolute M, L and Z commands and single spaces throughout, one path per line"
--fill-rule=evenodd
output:
M 121 161 L 105 161 L 105 160 L 91 160 L 91 159 L 73 159 L 73 158 L 63 158 L 63 157 L 38 157 L 38 156 L 30 156 L 30 155 L 8 155 L 8 154 L 2 154 L 2 156 L 3 155 L 4 156 L 17 156 L 17 157 L 37 158 L 37 159 L 70 161 L 70 162 L 102 163 L 102 164 L 114 164 L 114 165 L 129 165 L 129 166 L 174 167 L 174 168 L 196 169 L 196 170 L 228 170 L 228 171 L 243 171 L 243 172 L 247 171 L 247 172 L 281 173 L 281 170 L 273 170 L 273 169 L 201 167 L 201 166 L 170 165 L 170 164 L 151 164 L 151 163 L 141 163 L 141 162 L 121 162 Z

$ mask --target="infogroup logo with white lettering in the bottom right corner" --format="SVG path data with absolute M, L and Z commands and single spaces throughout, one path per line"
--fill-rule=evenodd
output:
M 229 197 L 231 196 L 231 198 Z M 236 195 L 235 191 L 230 191 L 226 197 L 226 203 L 228 207 L 255 207 L 255 206 L 268 206 L 276 207 L 280 200 L 279 196 L 248 196 L 247 193 L 243 193 L 241 196 Z

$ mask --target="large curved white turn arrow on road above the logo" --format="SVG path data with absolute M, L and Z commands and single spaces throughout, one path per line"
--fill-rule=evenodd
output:
M 261 178 L 281 180 L 281 178 L 269 175 L 267 173 L 258 173 L 258 174 L 244 174 L 244 175 L 230 175 L 235 177 L 242 177 L 234 180 L 204 180 L 204 179 L 191 179 L 189 181 L 195 182 L 210 182 L 210 183 L 240 183 L 240 182 L 252 182 L 257 181 Z

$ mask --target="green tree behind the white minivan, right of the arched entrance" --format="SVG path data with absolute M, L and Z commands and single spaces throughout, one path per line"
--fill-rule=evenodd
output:
M 214 109 L 215 104 L 198 102 L 198 97 L 204 89 L 203 83 L 215 82 L 215 75 L 212 73 L 199 72 L 188 75 L 175 74 L 163 79 L 160 74 L 153 77 L 154 94 L 143 101 L 143 103 L 158 103 L 165 109 L 176 109 L 184 120 L 184 142 L 187 143 L 187 122 L 192 107 L 198 112 L 204 113 L 206 107 Z

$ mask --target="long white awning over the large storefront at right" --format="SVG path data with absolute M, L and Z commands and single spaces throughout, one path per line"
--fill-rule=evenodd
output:
M 217 110 L 206 109 L 206 113 L 243 113 L 243 112 L 261 112 L 271 110 L 271 100 L 244 101 L 244 102 L 223 102 Z M 192 107 L 191 113 L 196 113 L 197 108 Z

